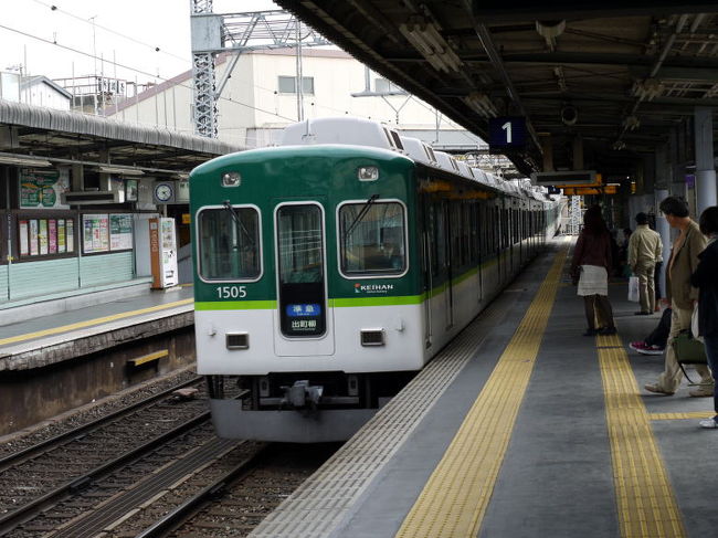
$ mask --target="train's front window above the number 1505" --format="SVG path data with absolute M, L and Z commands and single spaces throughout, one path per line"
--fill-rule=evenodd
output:
M 202 278 L 246 281 L 260 276 L 260 215 L 256 209 L 204 209 L 199 217 L 199 238 Z

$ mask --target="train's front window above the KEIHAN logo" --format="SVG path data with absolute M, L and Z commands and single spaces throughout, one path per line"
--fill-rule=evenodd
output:
M 359 215 L 365 213 L 360 219 Z M 400 274 L 406 268 L 404 208 L 398 202 L 347 203 L 339 209 L 341 272 Z

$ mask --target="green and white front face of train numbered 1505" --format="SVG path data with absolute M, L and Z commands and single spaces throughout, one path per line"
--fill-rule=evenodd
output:
M 220 436 L 348 439 L 422 368 L 413 167 L 294 146 L 192 172 L 198 371 Z

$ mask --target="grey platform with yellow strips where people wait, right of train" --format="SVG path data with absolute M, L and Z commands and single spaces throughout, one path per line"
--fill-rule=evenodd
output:
M 559 239 L 252 537 L 715 536 L 712 399 L 642 390 L 658 315 L 583 337 Z

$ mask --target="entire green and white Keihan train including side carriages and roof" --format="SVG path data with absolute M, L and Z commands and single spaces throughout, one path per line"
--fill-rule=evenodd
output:
M 559 223 L 559 202 L 525 182 L 356 118 L 205 162 L 190 199 L 214 426 L 267 441 L 349 437 Z

